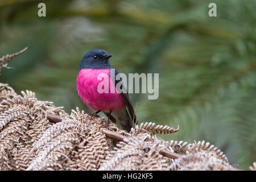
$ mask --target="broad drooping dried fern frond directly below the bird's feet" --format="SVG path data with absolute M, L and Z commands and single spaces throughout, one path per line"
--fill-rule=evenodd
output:
M 27 170 L 97 170 L 109 154 L 110 140 L 100 133 L 103 120 L 72 110 L 34 144 L 38 153 Z

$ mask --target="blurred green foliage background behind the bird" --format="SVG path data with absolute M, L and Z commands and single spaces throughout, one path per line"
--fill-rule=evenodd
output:
M 1 0 L 1 55 L 29 46 L 1 82 L 40 100 L 82 104 L 76 77 L 93 48 L 122 73 L 159 73 L 159 98 L 131 94 L 139 122 L 180 126 L 171 140 L 207 140 L 243 169 L 256 160 L 255 0 Z M 210 2 L 217 17 L 208 16 Z

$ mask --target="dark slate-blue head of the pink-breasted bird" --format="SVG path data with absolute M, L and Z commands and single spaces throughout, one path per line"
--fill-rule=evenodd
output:
M 81 69 L 104 69 L 110 68 L 109 58 L 113 55 L 109 55 L 108 52 L 102 49 L 93 49 L 85 54 L 79 65 L 79 71 Z

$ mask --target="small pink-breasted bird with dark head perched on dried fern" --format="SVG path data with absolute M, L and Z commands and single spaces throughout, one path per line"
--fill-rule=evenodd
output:
M 112 56 L 102 49 L 93 49 L 85 54 L 79 65 L 77 92 L 86 106 L 96 110 L 94 114 L 102 111 L 108 117 L 106 127 L 109 125 L 109 119 L 114 123 L 119 120 L 122 129 L 130 132 L 133 123 L 137 124 L 137 117 L 127 92 L 120 93 L 117 90 L 114 93 L 110 92 L 111 86 L 115 88 L 118 82 L 122 81 L 122 78 L 115 81 L 111 79 L 110 74 L 113 73 L 110 72 L 110 69 L 114 68 L 110 66 L 109 58 Z M 98 80 L 98 75 L 101 73 L 108 76 L 109 93 L 99 93 L 97 90 L 98 84 L 101 82 L 101 80 Z M 118 74 L 116 69 L 114 74 L 114 77 Z M 124 86 L 123 89 L 125 89 Z

